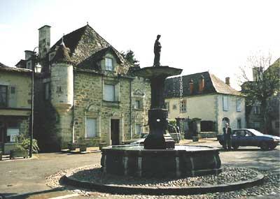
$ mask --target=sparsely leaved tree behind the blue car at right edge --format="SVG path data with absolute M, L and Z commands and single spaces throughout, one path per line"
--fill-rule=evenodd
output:
M 248 69 L 253 71 L 253 80 L 248 78 Z M 241 92 L 246 95 L 246 115 L 255 103 L 260 103 L 261 128 L 265 133 L 269 130 L 267 102 L 280 93 L 279 71 L 280 59 L 271 64 L 271 54 L 248 57 L 248 64 L 241 68 Z

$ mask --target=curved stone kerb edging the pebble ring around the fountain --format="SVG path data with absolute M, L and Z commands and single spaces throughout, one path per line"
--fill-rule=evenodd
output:
M 255 171 L 257 172 L 257 171 Z M 257 172 L 258 176 L 253 179 L 248 179 L 246 181 L 239 181 L 235 183 L 228 184 L 218 184 L 209 186 L 175 186 L 175 187 L 136 187 L 136 186 L 117 186 L 109 184 L 99 184 L 94 182 L 79 181 L 78 179 L 73 179 L 71 177 L 71 172 L 67 172 L 66 175 L 62 177 L 62 183 L 71 186 L 77 186 L 85 189 L 94 189 L 96 191 L 101 191 L 105 193 L 117 193 L 117 194 L 147 194 L 147 195 L 195 195 L 203 193 L 216 193 L 225 191 L 236 191 L 239 189 L 248 188 L 258 184 L 262 184 L 264 175 Z

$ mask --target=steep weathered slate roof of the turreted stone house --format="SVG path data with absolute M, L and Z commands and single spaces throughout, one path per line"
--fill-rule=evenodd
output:
M 96 62 L 109 49 L 116 54 L 116 59 L 120 63 L 124 63 L 123 56 L 120 52 L 104 40 L 102 36 L 97 34 L 88 24 L 64 35 L 63 42 L 66 47 L 69 47 L 69 56 L 75 68 L 100 70 L 96 64 L 92 63 Z M 57 40 L 55 45 L 50 48 L 50 52 L 56 50 L 56 47 L 60 43 L 62 43 L 62 38 Z M 121 64 L 120 66 L 118 73 L 126 73 L 128 71 L 129 66 L 127 64 Z

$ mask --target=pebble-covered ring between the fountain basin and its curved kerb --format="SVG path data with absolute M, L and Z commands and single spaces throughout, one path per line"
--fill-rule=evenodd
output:
M 97 182 L 102 184 L 117 184 L 119 186 L 205 186 L 216 184 L 228 184 L 232 182 L 244 181 L 253 179 L 258 174 L 249 168 L 232 168 L 225 167 L 223 172 L 219 175 L 205 175 L 202 177 L 183 177 L 176 179 L 157 179 L 157 178 L 139 178 L 139 177 L 127 177 L 118 175 L 102 175 L 100 165 L 90 165 L 83 168 L 78 168 L 71 171 L 72 178 L 83 180 L 87 182 Z

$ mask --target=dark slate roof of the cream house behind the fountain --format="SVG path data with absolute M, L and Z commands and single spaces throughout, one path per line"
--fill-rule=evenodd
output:
M 204 90 L 199 92 L 198 85 L 199 80 L 204 76 Z M 166 98 L 180 97 L 180 82 L 181 78 L 168 78 L 165 81 L 165 96 Z M 193 94 L 190 94 L 189 82 L 193 80 Z M 240 96 L 239 91 L 233 89 L 228 84 L 225 84 L 222 80 L 209 72 L 195 73 L 191 75 L 182 76 L 183 92 L 182 96 L 195 96 L 201 94 L 230 94 Z

